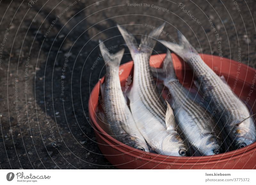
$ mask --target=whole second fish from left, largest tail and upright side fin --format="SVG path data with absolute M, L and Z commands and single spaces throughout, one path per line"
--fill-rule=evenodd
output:
M 164 24 L 148 36 L 143 35 L 138 45 L 135 37 L 118 25 L 134 63 L 128 97 L 132 116 L 148 144 L 159 154 L 186 156 L 188 147 L 175 130 L 172 108 L 168 103 L 167 107 L 164 105 L 149 66 L 149 57 L 163 28 Z

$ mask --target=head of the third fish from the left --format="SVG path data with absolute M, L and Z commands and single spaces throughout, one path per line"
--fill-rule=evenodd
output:
M 211 133 L 205 133 L 201 136 L 200 153 L 202 155 L 215 155 L 222 153 L 221 143 L 218 137 Z

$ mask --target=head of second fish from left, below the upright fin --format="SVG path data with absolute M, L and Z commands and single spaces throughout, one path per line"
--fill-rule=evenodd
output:
M 173 131 L 162 141 L 162 154 L 171 156 L 187 156 L 188 145 L 178 132 Z

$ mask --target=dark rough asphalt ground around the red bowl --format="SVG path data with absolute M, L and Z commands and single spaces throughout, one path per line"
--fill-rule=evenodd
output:
M 2 0 L 0 15 L 1 169 L 115 168 L 99 150 L 88 101 L 105 74 L 98 40 L 129 53 L 116 23 L 145 34 L 166 22 L 161 39 L 179 30 L 199 52 L 232 60 L 241 48 L 242 63 L 256 67 L 252 0 Z M 158 43 L 153 54 L 165 52 Z

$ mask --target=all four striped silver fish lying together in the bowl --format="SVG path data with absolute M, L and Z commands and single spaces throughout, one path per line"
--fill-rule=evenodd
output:
M 111 54 L 100 41 L 106 65 L 100 94 L 108 110 L 104 122 L 109 135 L 136 149 L 171 156 L 189 156 L 196 152 L 214 155 L 255 142 L 253 115 L 180 32 L 179 45 L 158 40 L 163 24 L 142 35 L 139 45 L 133 34 L 117 26 L 132 55 L 134 71 L 132 86 L 124 93 L 119 80 L 124 49 Z M 194 69 L 198 93 L 204 95 L 203 103 L 179 82 L 169 51 L 163 68 L 150 67 L 149 58 L 157 41 Z M 163 99 L 156 78 L 169 89 L 168 100 Z

